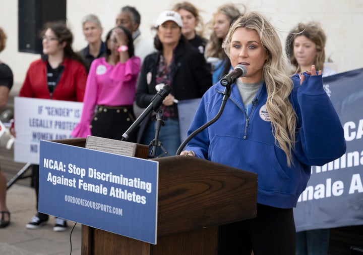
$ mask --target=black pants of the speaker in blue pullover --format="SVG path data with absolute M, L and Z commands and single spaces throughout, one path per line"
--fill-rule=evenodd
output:
M 295 255 L 292 209 L 257 205 L 255 219 L 219 227 L 218 255 Z

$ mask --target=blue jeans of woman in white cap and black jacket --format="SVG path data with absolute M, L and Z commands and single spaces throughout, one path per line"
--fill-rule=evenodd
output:
M 159 132 L 159 141 L 162 143 L 165 150 L 168 152 L 170 156 L 174 156 L 176 150 L 180 146 L 180 131 L 179 131 L 179 121 L 178 119 L 168 118 L 164 120 L 165 126 L 160 127 Z M 150 142 L 155 138 L 155 120 L 150 120 L 146 130 L 144 132 L 144 136 L 142 138 L 142 143 L 149 145 Z M 152 146 L 149 148 L 149 152 L 151 151 Z M 163 151 L 161 148 L 157 148 L 155 157 L 158 157 L 162 154 Z

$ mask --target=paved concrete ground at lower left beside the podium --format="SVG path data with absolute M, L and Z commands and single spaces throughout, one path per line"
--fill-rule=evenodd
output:
M 81 254 L 81 225 L 68 222 L 68 230 L 54 232 L 54 217 L 45 226 L 29 230 L 25 225 L 35 214 L 35 192 L 30 186 L 15 183 L 7 193 L 11 224 L 0 229 L 0 254 L 61 255 Z M 72 253 L 71 253 L 72 247 Z

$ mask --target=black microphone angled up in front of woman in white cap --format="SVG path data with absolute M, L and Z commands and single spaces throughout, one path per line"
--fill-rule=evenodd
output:
M 169 85 L 165 85 L 162 87 L 154 96 L 151 98 L 150 105 L 142 112 L 139 118 L 129 127 L 128 130 L 123 134 L 122 141 L 129 139 L 130 135 L 134 133 L 137 127 L 141 124 L 141 122 L 151 113 L 151 111 L 157 111 L 162 105 L 162 101 L 165 97 L 170 93 L 171 87 Z

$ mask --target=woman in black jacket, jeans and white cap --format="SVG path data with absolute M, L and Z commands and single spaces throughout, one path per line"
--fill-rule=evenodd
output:
M 157 93 L 157 84 L 171 86 L 170 94 L 163 100 L 163 120 L 159 140 L 169 155 L 175 155 L 180 145 L 177 100 L 202 97 L 212 85 L 212 76 L 204 57 L 189 45 L 181 34 L 180 15 L 174 11 L 160 14 L 156 22 L 154 38 L 156 53 L 148 55 L 143 63 L 138 80 L 136 103 L 139 107 L 149 106 Z M 144 121 L 139 131 L 138 142 L 149 145 L 155 137 L 155 115 Z M 162 150 L 158 148 L 156 156 Z

